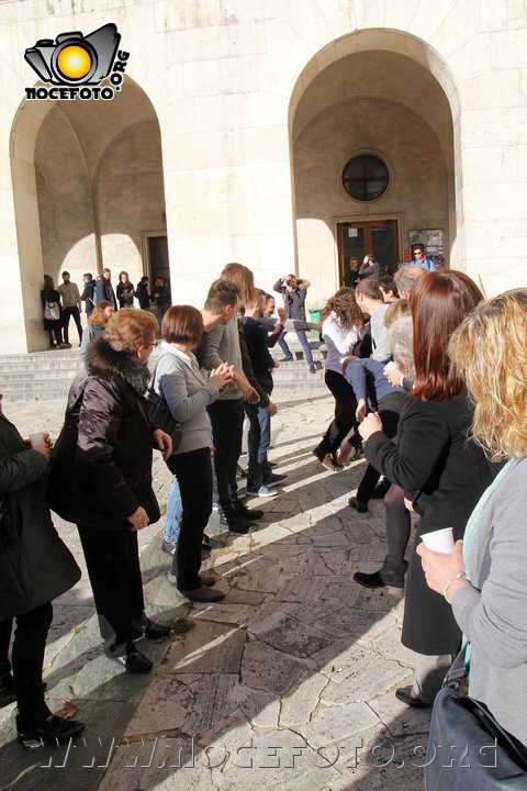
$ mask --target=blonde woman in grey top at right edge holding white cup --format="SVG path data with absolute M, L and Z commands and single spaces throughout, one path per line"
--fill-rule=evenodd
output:
M 506 463 L 450 555 L 417 548 L 428 586 L 472 644 L 469 693 L 527 745 L 527 289 L 482 302 L 449 355 L 475 402 L 472 433 Z

